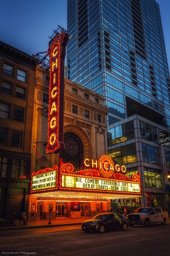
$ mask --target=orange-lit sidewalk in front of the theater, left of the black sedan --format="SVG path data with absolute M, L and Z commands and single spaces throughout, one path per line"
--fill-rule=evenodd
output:
M 23 226 L 23 220 L 15 220 L 15 226 L 0 226 L 0 231 L 3 230 L 16 230 L 16 229 L 33 229 L 33 228 L 50 228 L 57 226 L 71 226 L 71 225 L 81 225 L 83 221 L 91 219 L 88 217 L 71 218 L 62 217 L 57 219 L 52 219 L 51 224 L 48 224 L 49 219 L 37 219 L 37 220 L 27 220 L 27 225 Z

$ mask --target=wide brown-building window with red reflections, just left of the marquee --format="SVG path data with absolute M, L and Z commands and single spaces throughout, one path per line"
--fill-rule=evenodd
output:
M 27 179 L 28 161 L 13 159 L 11 178 L 13 179 Z

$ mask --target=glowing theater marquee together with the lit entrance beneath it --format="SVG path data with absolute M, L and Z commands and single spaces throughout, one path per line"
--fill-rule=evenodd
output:
M 125 166 L 114 165 L 112 158 L 102 155 L 98 160 L 86 158 L 81 170 L 60 159 L 59 166 L 33 172 L 30 194 L 30 215 L 36 212 L 36 204 L 38 210 L 43 205 L 37 217 L 48 218 L 49 208 L 52 218 L 80 217 L 110 211 L 113 199 L 122 200 L 122 207 L 123 201 L 139 202 L 142 189 L 139 173 L 128 178 Z

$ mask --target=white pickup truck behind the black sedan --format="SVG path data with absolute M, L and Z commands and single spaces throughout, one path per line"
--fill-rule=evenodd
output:
M 148 227 L 151 223 L 166 224 L 166 218 L 161 207 L 144 207 L 138 208 L 134 213 L 128 214 L 129 226 L 144 225 Z

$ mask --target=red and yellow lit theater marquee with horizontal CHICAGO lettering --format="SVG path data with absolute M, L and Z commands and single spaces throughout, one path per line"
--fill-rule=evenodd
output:
M 126 167 L 114 165 L 112 158 L 86 158 L 82 170 L 63 163 L 32 173 L 31 191 L 35 197 L 60 199 L 108 200 L 142 195 L 140 174 L 126 176 Z

